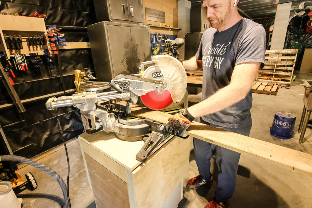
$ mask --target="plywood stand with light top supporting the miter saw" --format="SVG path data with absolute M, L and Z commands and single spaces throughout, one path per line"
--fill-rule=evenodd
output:
M 128 142 L 103 130 L 79 136 L 97 207 L 177 207 L 188 172 L 190 138 L 168 139 L 144 163 L 135 159 L 144 142 Z

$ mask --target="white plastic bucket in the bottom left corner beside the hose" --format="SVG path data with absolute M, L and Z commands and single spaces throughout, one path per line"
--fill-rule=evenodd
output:
M 16 197 L 12 183 L 0 181 L 0 204 L 1 208 L 21 208 L 22 199 Z

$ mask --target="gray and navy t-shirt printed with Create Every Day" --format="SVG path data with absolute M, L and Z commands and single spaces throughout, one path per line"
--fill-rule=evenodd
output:
M 202 35 L 197 56 L 202 60 L 202 100 L 230 84 L 233 69 L 245 62 L 261 62 L 264 66 L 266 32 L 262 25 L 243 18 L 227 30 L 207 29 Z M 238 103 L 203 120 L 228 128 L 241 128 L 251 122 L 252 93 Z

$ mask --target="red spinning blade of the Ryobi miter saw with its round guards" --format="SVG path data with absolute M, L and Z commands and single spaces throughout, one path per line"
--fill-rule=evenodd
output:
M 154 66 L 147 68 L 142 78 L 164 81 L 163 89 L 148 92 L 141 96 L 144 105 L 150 109 L 165 109 L 172 103 L 180 103 L 184 97 L 187 76 L 180 61 L 172 56 L 153 56 Z

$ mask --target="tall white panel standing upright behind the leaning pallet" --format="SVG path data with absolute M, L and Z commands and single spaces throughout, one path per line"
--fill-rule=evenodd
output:
M 284 49 L 290 9 L 291 2 L 277 5 L 274 29 L 272 34 L 271 50 Z

